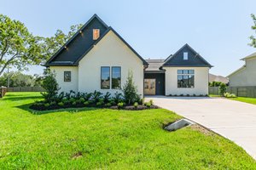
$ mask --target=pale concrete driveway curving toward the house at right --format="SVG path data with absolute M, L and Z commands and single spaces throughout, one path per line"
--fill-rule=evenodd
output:
M 148 96 L 159 105 L 240 145 L 256 159 L 256 105 L 221 98 Z

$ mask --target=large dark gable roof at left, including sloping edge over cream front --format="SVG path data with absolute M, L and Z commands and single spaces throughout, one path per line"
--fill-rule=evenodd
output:
M 100 37 L 95 41 L 92 40 L 92 29 L 100 29 Z M 107 26 L 96 14 L 94 14 L 90 20 L 88 20 L 79 31 L 77 31 L 73 37 L 71 37 L 45 64 L 45 66 L 76 66 L 79 65 L 79 61 L 84 58 L 84 55 L 88 54 L 97 42 L 100 42 L 109 31 L 119 37 L 119 39 L 125 43 L 125 45 L 131 49 L 131 51 L 137 55 L 139 59 L 143 61 L 143 65 L 148 63 L 131 48 L 131 46 L 125 42 L 124 38 L 113 30 L 111 26 Z M 89 38 L 88 38 L 89 37 Z M 67 48 L 66 48 L 67 47 Z

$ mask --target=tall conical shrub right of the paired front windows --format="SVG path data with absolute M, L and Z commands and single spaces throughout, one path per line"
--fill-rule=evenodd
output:
M 136 99 L 139 97 L 137 94 L 137 87 L 135 86 L 133 82 L 133 74 L 132 71 L 129 71 L 127 80 L 125 82 L 125 85 L 123 87 L 123 93 L 125 97 L 125 102 L 127 102 L 129 105 L 134 103 Z

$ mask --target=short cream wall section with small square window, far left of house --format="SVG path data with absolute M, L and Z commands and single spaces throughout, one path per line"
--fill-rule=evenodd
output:
M 60 92 L 79 91 L 79 67 L 78 66 L 50 66 L 50 71 L 55 72 L 56 81 L 59 84 Z M 71 71 L 71 82 L 64 82 L 64 71 Z

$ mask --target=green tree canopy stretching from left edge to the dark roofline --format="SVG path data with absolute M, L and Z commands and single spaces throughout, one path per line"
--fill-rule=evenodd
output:
M 39 37 L 33 36 L 19 20 L 0 14 L 0 76 L 8 67 L 23 71 L 27 65 L 43 64 L 81 26 L 71 26 L 67 34 L 57 30 L 52 37 Z

